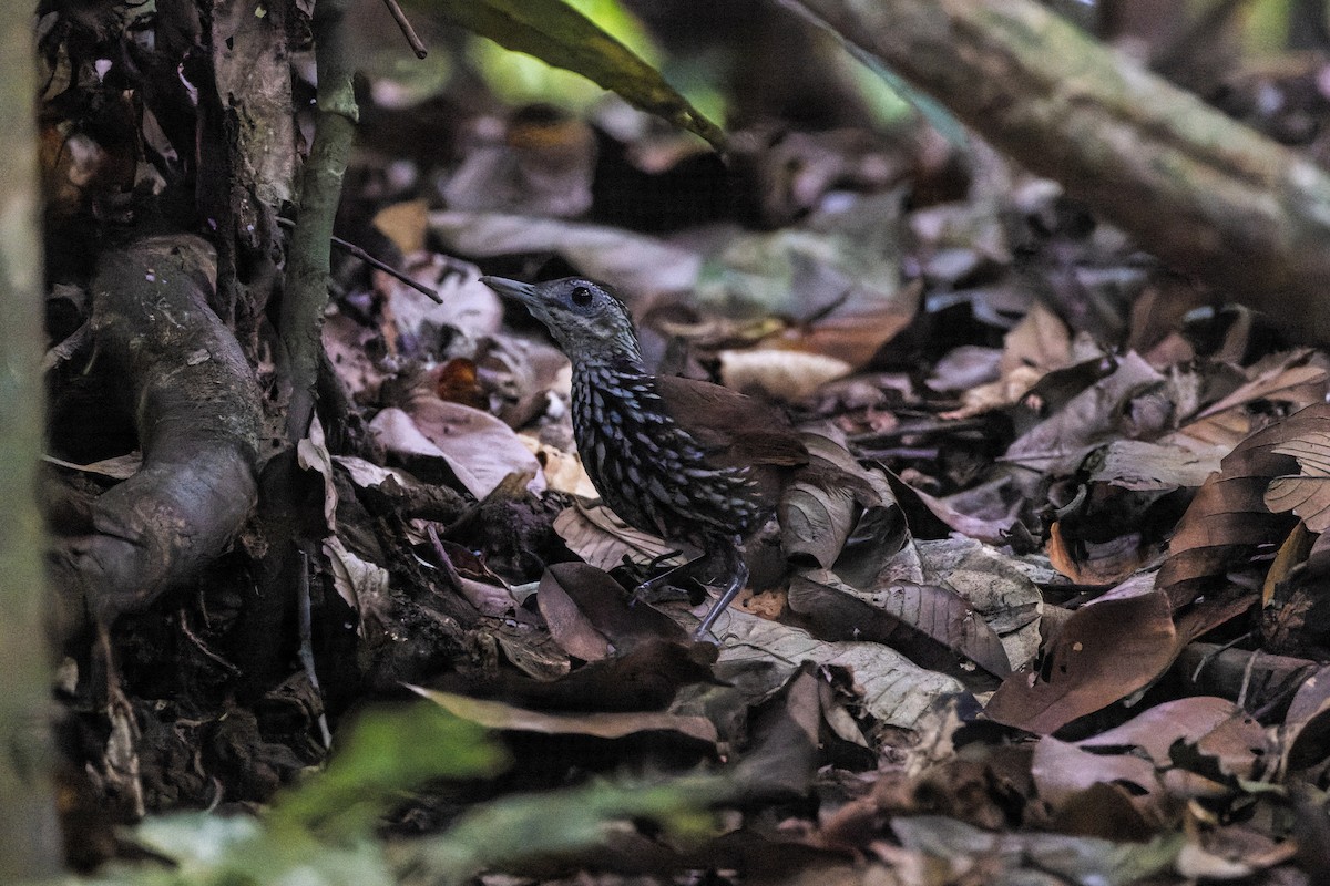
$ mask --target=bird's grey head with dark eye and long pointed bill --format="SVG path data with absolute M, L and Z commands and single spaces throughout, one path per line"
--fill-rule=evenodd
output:
M 628 306 L 608 286 L 577 276 L 545 283 L 483 276 L 480 282 L 527 306 L 573 363 L 641 356 Z

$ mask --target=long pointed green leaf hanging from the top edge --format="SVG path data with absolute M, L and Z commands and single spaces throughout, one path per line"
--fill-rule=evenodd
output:
M 714 147 L 725 134 L 660 72 L 564 0 L 418 0 L 462 28 L 592 80 L 645 112 L 697 133 Z

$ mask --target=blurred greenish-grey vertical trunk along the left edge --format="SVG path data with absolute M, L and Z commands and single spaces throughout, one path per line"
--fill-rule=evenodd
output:
M 43 271 L 32 8 L 0 12 L 0 882 L 60 869 L 49 741 L 36 472 L 43 441 Z

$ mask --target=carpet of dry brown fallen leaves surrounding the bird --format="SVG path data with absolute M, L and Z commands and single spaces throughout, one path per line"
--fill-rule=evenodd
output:
M 446 169 L 444 207 L 379 207 L 443 304 L 350 287 L 323 328 L 343 414 L 299 448 L 322 618 L 347 635 L 321 648 L 344 655 L 331 712 L 410 692 L 509 757 L 379 810 L 418 873 L 757 879 L 766 857 L 791 882 L 1322 882 L 1303 859 L 1330 842 L 1326 355 L 1206 313 L 990 151 L 918 205 L 864 173 L 922 167 L 918 142 L 758 139 L 767 183 L 794 150 L 839 171 L 750 195 L 755 219 L 632 230 L 597 209 L 596 163 L 551 191 L 512 177 L 509 142 Z M 503 189 L 476 186 L 493 170 Z M 481 271 L 604 279 L 662 373 L 798 421 L 810 464 L 718 647 L 688 639 L 704 588 L 634 596 L 696 551 L 595 502 L 567 367 Z M 544 788 L 585 792 L 549 794 L 569 833 L 456 861 L 450 825 L 529 822 L 517 792 Z M 241 830 L 218 840 L 259 840 Z

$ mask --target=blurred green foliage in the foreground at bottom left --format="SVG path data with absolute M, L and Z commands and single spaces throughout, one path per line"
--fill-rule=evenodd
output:
M 406 792 L 438 778 L 495 774 L 504 754 L 485 732 L 435 704 L 375 711 L 340 740 L 323 773 L 278 797 L 263 816 L 185 813 L 149 818 L 134 838 L 174 866 L 117 863 L 101 886 L 391 886 L 460 882 L 532 858 L 595 851 L 629 820 L 654 821 L 677 845 L 717 833 L 709 805 L 733 785 L 692 777 L 656 785 L 593 784 L 480 805 L 432 838 L 392 843 L 379 817 Z

